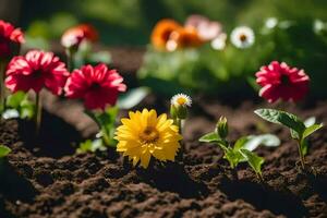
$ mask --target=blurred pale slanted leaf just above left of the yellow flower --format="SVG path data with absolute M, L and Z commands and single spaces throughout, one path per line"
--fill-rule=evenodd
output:
M 117 105 L 120 109 L 131 109 L 138 105 L 149 92 L 150 89 L 148 87 L 130 89 L 128 93 L 120 95 Z

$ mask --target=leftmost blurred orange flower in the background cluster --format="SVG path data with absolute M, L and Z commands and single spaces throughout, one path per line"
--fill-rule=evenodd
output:
M 159 21 L 152 34 L 152 44 L 158 50 L 166 50 L 167 43 L 170 39 L 170 36 L 173 32 L 182 28 L 173 20 L 165 19 Z

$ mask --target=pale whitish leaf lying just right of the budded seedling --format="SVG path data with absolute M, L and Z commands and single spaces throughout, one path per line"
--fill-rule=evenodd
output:
M 252 152 L 256 149 L 259 145 L 264 145 L 267 147 L 276 147 L 280 145 L 280 140 L 272 134 L 249 135 L 247 141 L 242 146 L 242 148 Z

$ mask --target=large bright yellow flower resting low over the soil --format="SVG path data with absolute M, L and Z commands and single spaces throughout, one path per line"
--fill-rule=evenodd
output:
M 161 161 L 173 161 L 182 140 L 173 121 L 167 119 L 166 113 L 157 117 L 156 110 L 143 109 L 129 114 L 129 119 L 121 119 L 122 125 L 116 132 L 117 152 L 129 156 L 133 166 L 141 160 L 143 168 L 148 167 L 152 156 Z

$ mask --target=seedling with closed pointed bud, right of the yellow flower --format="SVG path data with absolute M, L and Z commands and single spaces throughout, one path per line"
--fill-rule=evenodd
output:
M 253 150 L 261 144 L 266 146 L 278 146 L 280 141 L 271 134 L 247 135 L 240 137 L 233 146 L 226 140 L 228 136 L 228 123 L 225 117 L 221 117 L 217 123 L 216 131 L 210 132 L 199 138 L 199 142 L 217 143 L 223 150 L 223 158 L 228 160 L 230 167 L 235 169 L 240 162 L 247 162 L 254 170 L 257 178 L 263 181 L 262 165 L 264 158 L 257 156 Z

